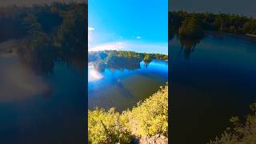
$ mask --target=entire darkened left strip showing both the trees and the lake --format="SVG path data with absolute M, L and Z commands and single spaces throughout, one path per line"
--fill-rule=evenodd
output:
M 87 6 L 51 2 L 0 7 L 2 143 L 85 142 Z

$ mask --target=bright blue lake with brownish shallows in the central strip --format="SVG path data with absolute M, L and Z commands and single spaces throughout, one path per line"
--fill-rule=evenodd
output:
M 168 63 L 154 60 L 124 62 L 122 66 L 88 67 L 88 107 L 115 107 L 122 112 L 148 98 L 168 81 Z

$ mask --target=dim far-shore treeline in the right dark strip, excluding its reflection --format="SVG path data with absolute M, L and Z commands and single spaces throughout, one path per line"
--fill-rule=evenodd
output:
M 238 14 L 169 12 L 170 37 L 174 33 L 198 37 L 202 30 L 214 30 L 233 34 L 256 34 L 256 19 Z M 179 30 L 181 29 L 181 30 Z M 194 34 L 193 32 L 198 32 Z

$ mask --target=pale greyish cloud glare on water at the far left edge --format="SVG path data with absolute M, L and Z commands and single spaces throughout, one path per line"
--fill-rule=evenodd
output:
M 0 54 L 0 102 L 28 98 L 49 90 L 47 82 L 15 54 Z

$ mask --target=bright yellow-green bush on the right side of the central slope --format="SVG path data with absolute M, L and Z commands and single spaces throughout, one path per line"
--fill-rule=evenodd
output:
M 123 112 L 125 125 L 130 132 L 138 137 L 168 134 L 168 86 L 162 87 L 157 93 L 138 102 L 132 110 Z

